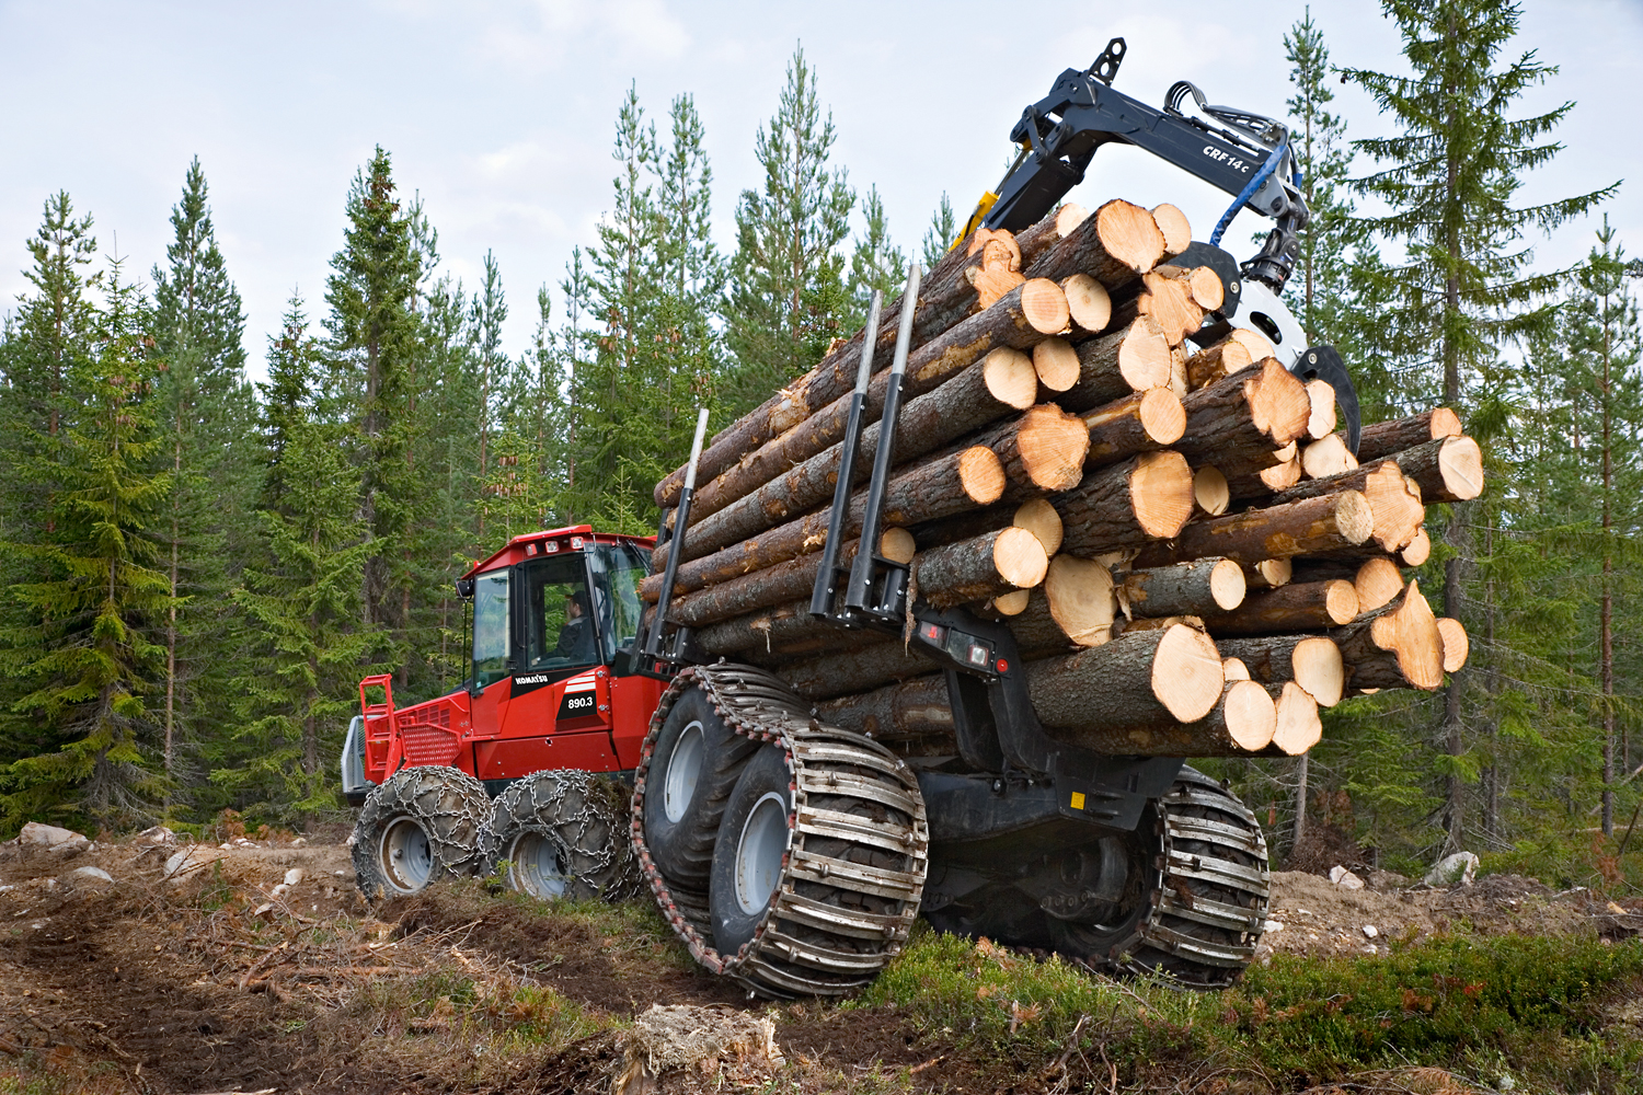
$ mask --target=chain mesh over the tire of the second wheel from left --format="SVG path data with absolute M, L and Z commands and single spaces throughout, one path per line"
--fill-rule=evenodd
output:
M 480 831 L 485 873 L 493 873 L 508 850 L 496 832 L 496 819 L 511 816 L 521 819 L 518 832 L 536 832 L 559 849 L 560 864 L 568 867 L 565 873 L 577 883 L 567 896 L 611 905 L 636 898 L 644 878 L 633 845 L 621 839 L 626 809 L 611 790 L 608 780 L 580 768 L 552 768 L 516 780 L 496 796 Z

